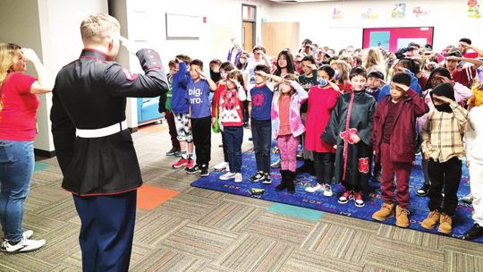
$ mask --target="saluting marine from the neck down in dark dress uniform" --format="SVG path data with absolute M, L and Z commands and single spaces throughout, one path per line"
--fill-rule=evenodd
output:
M 62 187 L 80 216 L 84 271 L 127 271 L 136 217 L 140 166 L 126 126 L 126 98 L 168 90 L 157 52 L 136 53 L 145 74 L 85 48 L 57 74 L 50 119 Z

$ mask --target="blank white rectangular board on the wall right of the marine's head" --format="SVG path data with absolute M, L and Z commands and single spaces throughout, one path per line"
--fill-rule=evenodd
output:
M 166 39 L 199 39 L 201 17 L 166 14 Z

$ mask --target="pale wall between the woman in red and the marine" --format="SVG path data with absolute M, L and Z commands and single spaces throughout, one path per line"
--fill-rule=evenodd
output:
M 47 70 L 55 74 L 80 55 L 80 21 L 90 13 L 107 13 L 106 0 L 2 0 L 0 41 L 31 47 Z M 36 75 L 31 64 L 28 73 Z M 39 96 L 38 135 L 35 148 L 53 151 L 49 113 L 50 94 Z

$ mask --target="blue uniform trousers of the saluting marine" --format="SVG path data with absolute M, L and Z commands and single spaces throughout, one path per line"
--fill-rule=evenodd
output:
M 80 217 L 82 271 L 128 271 L 137 190 L 114 195 L 72 195 Z

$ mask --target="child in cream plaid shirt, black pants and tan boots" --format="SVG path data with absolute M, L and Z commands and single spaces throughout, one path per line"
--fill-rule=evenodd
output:
M 451 234 L 462 179 L 462 135 L 469 117 L 468 112 L 456 103 L 451 83 L 437 85 L 430 95 L 435 109 L 429 113 L 421 135 L 423 157 L 429 160 L 429 214 L 420 225 L 433 229 L 439 223 L 438 232 Z

